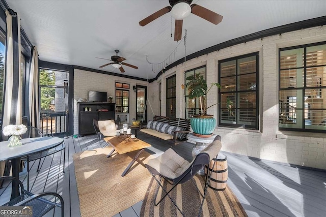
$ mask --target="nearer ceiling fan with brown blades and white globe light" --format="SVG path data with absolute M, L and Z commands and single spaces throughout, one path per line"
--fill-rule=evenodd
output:
M 193 13 L 215 25 L 222 21 L 223 16 L 220 14 L 216 14 L 215 12 L 196 4 L 190 5 L 192 2 L 193 0 L 169 0 L 171 6 L 156 11 L 154 14 L 141 20 L 139 24 L 145 26 L 158 17 L 171 11 L 172 16 L 175 18 L 174 41 L 180 41 L 182 35 L 182 21 L 184 18 L 189 16 L 190 13 Z

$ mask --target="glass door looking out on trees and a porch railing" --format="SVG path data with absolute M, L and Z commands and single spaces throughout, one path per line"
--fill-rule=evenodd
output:
M 68 135 L 69 73 L 40 69 L 40 126 L 44 135 Z

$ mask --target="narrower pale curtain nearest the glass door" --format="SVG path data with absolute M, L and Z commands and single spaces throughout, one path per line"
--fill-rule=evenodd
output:
M 39 76 L 38 76 L 38 52 L 36 47 L 32 47 L 30 56 L 30 72 L 26 80 L 28 84 L 29 96 L 29 125 L 40 129 L 39 116 Z

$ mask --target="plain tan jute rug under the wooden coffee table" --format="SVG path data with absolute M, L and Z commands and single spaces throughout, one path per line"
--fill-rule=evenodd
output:
M 73 154 L 80 214 L 83 217 L 115 215 L 141 201 L 146 194 L 152 176 L 138 162 L 121 177 L 131 157 L 138 151 L 114 153 L 106 158 L 111 150 L 111 147 L 105 147 Z M 146 150 L 140 155 L 144 164 L 150 158 Z

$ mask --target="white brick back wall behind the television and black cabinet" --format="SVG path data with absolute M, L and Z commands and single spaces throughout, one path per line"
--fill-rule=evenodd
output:
M 115 102 L 115 82 L 124 82 L 130 84 L 129 89 L 129 121 L 136 117 L 136 94 L 132 89 L 133 85 L 148 86 L 148 82 L 139 81 L 129 78 L 122 78 L 113 75 L 105 75 L 95 72 L 84 70 L 74 70 L 74 117 L 73 117 L 73 130 L 74 134 L 78 134 L 78 105 L 79 98 L 86 98 L 88 100 L 88 91 L 101 91 L 107 92 L 107 96 L 113 96 Z M 156 95 L 156 93 L 154 93 Z M 150 95 L 149 88 L 147 89 L 148 97 Z M 157 95 L 158 96 L 158 95 Z M 150 98 L 151 99 L 151 98 Z

